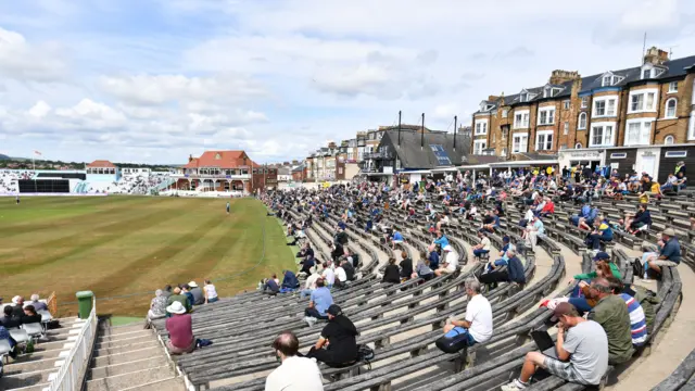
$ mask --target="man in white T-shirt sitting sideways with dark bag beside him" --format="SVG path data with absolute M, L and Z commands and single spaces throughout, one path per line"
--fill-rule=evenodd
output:
M 454 330 L 456 335 L 463 332 L 468 335 L 468 345 L 486 342 L 492 337 L 492 306 L 482 294 L 480 294 L 480 282 L 475 278 L 466 279 L 466 317 L 464 320 L 448 318 L 444 326 L 444 333 Z

